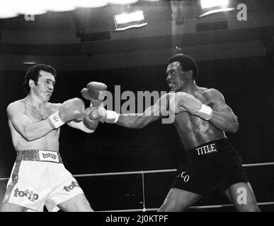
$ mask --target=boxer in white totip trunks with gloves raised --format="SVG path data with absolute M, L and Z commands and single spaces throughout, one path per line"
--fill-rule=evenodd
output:
M 64 124 L 93 133 L 98 121 L 86 116 L 96 106 L 85 112 L 84 102 L 79 98 L 62 104 L 49 102 L 55 78 L 52 66 L 30 67 L 23 83 L 27 96 L 7 107 L 8 126 L 17 157 L 6 187 L 3 212 L 43 211 L 44 206 L 49 211 L 58 208 L 93 211 L 76 179 L 62 163 L 59 134 Z

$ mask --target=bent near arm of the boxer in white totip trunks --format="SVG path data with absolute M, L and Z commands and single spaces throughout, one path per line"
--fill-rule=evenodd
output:
M 49 119 L 34 122 L 24 114 L 21 103 L 13 102 L 7 107 L 8 120 L 13 127 L 27 141 L 34 141 L 52 131 L 52 124 Z

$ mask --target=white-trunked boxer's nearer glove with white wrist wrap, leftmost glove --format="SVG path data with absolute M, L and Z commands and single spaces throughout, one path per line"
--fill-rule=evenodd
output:
M 85 117 L 85 104 L 79 98 L 73 98 L 63 102 L 57 112 L 50 115 L 50 123 L 57 129 L 67 121 L 81 121 Z

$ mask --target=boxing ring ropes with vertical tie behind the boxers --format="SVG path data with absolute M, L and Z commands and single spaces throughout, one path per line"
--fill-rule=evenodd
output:
M 264 162 L 264 163 L 251 163 L 243 164 L 243 167 L 261 167 L 274 165 L 274 162 Z M 154 173 L 164 173 L 164 172 L 176 172 L 177 169 L 157 169 L 157 170 L 146 170 L 146 171 L 130 171 L 130 172 L 106 172 L 106 173 L 93 173 L 93 174 L 74 174 L 73 177 L 102 177 L 102 176 L 115 176 L 115 175 L 129 175 L 129 174 L 141 174 L 142 175 L 142 209 L 130 209 L 130 210 L 103 210 L 99 212 L 146 212 L 146 211 L 156 211 L 158 208 L 145 208 L 145 197 L 144 197 L 144 174 L 154 174 Z M 0 178 L 1 181 L 6 181 L 9 178 Z M 273 202 L 262 202 L 258 203 L 258 206 L 274 205 Z M 233 204 L 224 205 L 214 205 L 214 206 L 190 206 L 190 209 L 210 209 L 210 208 L 224 208 L 231 207 Z

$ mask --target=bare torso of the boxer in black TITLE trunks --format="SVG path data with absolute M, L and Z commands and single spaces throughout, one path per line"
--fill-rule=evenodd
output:
M 214 103 L 209 100 L 208 95 L 204 95 L 205 92 L 203 91 L 205 90 L 204 88 L 200 88 L 194 97 L 203 104 L 213 108 Z M 206 92 L 210 92 L 210 90 L 206 90 Z M 226 137 L 224 131 L 217 129 L 210 121 L 188 114 L 188 112 L 179 112 L 176 114 L 174 125 L 186 150 Z

